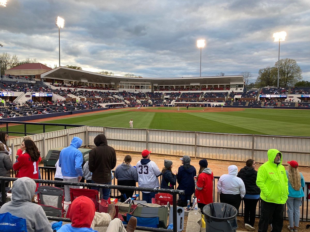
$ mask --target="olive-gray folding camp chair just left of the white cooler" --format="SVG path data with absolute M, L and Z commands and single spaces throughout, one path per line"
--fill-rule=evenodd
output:
M 137 205 L 129 204 L 128 214 L 134 217 L 159 217 L 159 228 L 166 229 L 169 208 L 169 202 L 166 206 L 159 207 L 151 207 L 140 203 Z

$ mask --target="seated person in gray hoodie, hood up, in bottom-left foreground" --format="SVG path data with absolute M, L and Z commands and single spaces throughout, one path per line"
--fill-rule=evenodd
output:
M 36 183 L 29 177 L 18 178 L 12 186 L 12 200 L 0 208 L 0 213 L 9 212 L 26 219 L 28 232 L 53 232 L 42 207 L 31 203 Z

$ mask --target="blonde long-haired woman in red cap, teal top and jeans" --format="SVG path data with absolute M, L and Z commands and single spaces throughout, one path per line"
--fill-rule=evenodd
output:
M 287 215 L 289 217 L 290 225 L 287 229 L 290 232 L 297 232 L 299 226 L 299 216 L 302 198 L 304 197 L 303 187 L 305 186 L 305 180 L 303 174 L 298 171 L 297 161 L 288 161 L 286 175 L 288 178 L 289 195 L 286 201 Z

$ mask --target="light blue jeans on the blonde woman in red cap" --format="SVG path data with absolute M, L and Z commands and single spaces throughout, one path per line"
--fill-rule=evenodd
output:
M 289 217 L 290 227 L 299 226 L 301 197 L 290 197 L 286 201 L 287 216 Z

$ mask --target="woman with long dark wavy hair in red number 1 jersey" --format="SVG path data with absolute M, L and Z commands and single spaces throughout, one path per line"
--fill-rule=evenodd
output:
M 20 149 L 22 151 L 22 154 L 16 159 L 15 163 L 13 164 L 13 169 L 17 171 L 15 177 L 29 177 L 32 179 L 38 179 L 38 163 L 40 157 L 38 147 L 32 140 L 25 140 L 21 143 Z

